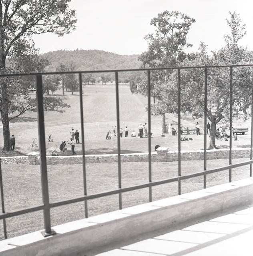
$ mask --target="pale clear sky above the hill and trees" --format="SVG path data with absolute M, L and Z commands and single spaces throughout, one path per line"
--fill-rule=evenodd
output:
M 175 10 L 195 18 L 187 35 L 196 52 L 200 41 L 210 53 L 224 45 L 223 35 L 229 33 L 226 18 L 229 10 L 240 14 L 247 34 L 239 45 L 253 50 L 252 0 L 72 0 L 76 10 L 76 30 L 64 37 L 54 34 L 34 35 L 39 52 L 56 50 L 97 49 L 120 55 L 141 54 L 147 51 L 145 35 L 154 32 L 151 18 L 165 10 Z

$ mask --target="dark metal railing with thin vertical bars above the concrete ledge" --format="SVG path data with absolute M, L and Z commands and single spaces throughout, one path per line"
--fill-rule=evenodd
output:
M 44 236 L 50 236 L 55 234 L 51 228 L 50 221 L 50 208 L 58 207 L 61 205 L 67 205 L 70 203 L 77 203 L 84 201 L 84 211 L 85 217 L 88 217 L 88 204 L 87 201 L 90 199 L 105 197 L 108 195 L 118 194 L 119 197 L 119 209 L 122 209 L 122 193 L 127 191 L 134 191 L 137 189 L 149 188 L 149 201 L 152 201 L 152 187 L 157 185 L 162 185 L 171 182 L 178 182 L 178 194 L 181 195 L 181 181 L 185 179 L 190 179 L 193 177 L 204 177 L 203 188 L 206 188 L 206 176 L 211 173 L 217 173 L 220 171 L 229 170 L 229 182 L 232 181 L 232 168 L 241 167 L 245 165 L 250 165 L 249 176 L 252 177 L 252 164 L 253 164 L 253 112 L 251 112 L 251 151 L 250 151 L 250 160 L 242 163 L 237 163 L 232 165 L 232 129 L 230 129 L 230 138 L 229 138 L 229 165 L 225 167 L 219 167 L 216 169 L 207 170 L 207 74 L 209 68 L 230 68 L 230 127 L 232 127 L 232 106 L 233 106 L 233 67 L 252 67 L 252 98 L 251 98 L 251 109 L 253 109 L 253 65 L 223 65 L 223 66 L 201 66 L 201 67 L 168 67 L 168 68 L 154 68 L 154 69 L 118 69 L 118 70 L 98 70 L 98 71 L 69 71 L 69 72 L 48 72 L 48 73 L 26 73 L 26 74 L 3 74 L 0 77 L 9 77 L 9 76 L 26 76 L 34 75 L 36 76 L 36 98 L 37 98 L 37 115 L 38 115 L 38 133 L 39 133 L 39 146 L 40 146 L 40 173 L 41 173 L 41 185 L 42 185 L 42 205 L 36 207 L 31 207 L 27 209 L 21 209 L 19 211 L 5 212 L 4 208 L 4 190 L 3 190 L 3 181 L 2 181 L 2 168 L 0 163 L 0 193 L 1 193 L 1 202 L 2 202 L 2 213 L 0 214 L 0 219 L 3 220 L 4 227 L 4 238 L 7 238 L 6 231 L 6 218 L 22 215 L 25 213 L 31 213 L 34 211 L 43 210 L 44 213 Z M 180 131 L 181 127 L 181 69 L 204 69 L 205 73 L 205 106 L 204 106 L 204 168 L 203 171 L 192 173 L 189 175 L 181 175 L 181 133 L 178 133 L 178 176 L 170 179 L 163 179 L 160 181 L 152 181 L 152 169 L 151 169 L 151 136 L 148 136 L 149 143 L 149 182 L 135 185 L 131 187 L 122 188 L 121 185 L 121 161 L 120 161 L 120 137 L 119 137 L 119 128 L 120 128 L 120 112 L 119 112 L 119 95 L 118 95 L 118 73 L 127 72 L 127 71 L 147 71 L 147 89 L 148 89 L 148 132 L 151 134 L 151 71 L 153 70 L 165 70 L 165 69 L 177 69 L 177 86 L 178 86 L 178 130 Z M 106 191 L 102 193 L 96 193 L 92 195 L 87 195 L 87 186 L 86 186 L 86 163 L 85 163 L 85 145 L 84 145 L 84 118 L 83 118 L 83 102 L 82 102 L 82 74 L 83 73 L 115 73 L 115 89 L 116 89 L 116 118 L 117 118 L 117 143 L 118 143 L 118 189 L 112 191 Z M 44 128 L 44 110 L 43 110 L 43 91 L 42 91 L 42 75 L 54 75 L 54 74 L 78 74 L 79 75 L 79 91 L 80 91 L 80 121 L 81 121 L 81 135 L 82 135 L 82 171 L 83 171 L 83 183 L 84 183 L 84 196 L 77 197 L 70 200 L 59 201 L 56 203 L 50 203 L 49 193 L 48 193 L 48 176 L 47 176 L 47 165 L 46 165 L 46 144 L 45 144 L 45 128 Z

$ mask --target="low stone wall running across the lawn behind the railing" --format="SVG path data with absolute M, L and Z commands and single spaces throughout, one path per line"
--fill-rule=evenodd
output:
M 232 148 L 232 158 L 243 158 L 250 156 L 250 148 Z M 207 150 L 207 160 L 229 158 L 229 148 Z M 181 150 L 181 160 L 203 160 L 204 150 Z M 82 156 L 46 156 L 48 165 L 73 165 L 82 164 Z M 30 164 L 40 165 L 40 154 L 31 152 L 26 156 L 1 157 L 1 163 L 6 164 Z M 86 163 L 116 163 L 117 154 L 86 155 Z M 148 162 L 149 153 L 121 154 L 121 162 Z M 157 152 L 151 153 L 152 162 L 178 161 L 178 152 L 170 151 L 168 148 L 157 148 Z

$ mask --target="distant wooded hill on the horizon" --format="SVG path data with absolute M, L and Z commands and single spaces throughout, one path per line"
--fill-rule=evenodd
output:
M 138 61 L 139 55 L 119 55 L 99 50 L 50 51 L 42 54 L 41 57 L 47 58 L 51 63 L 46 71 L 55 71 L 60 64 L 70 66 L 72 63 L 76 71 L 138 69 L 141 66 L 141 61 Z M 141 72 L 122 72 L 120 73 L 120 79 L 124 81 L 138 75 L 141 75 Z M 100 76 L 101 74 L 94 74 L 95 78 Z

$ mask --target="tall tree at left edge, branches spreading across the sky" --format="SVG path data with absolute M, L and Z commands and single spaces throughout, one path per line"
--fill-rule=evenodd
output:
M 6 57 L 12 57 L 12 50 L 30 45 L 32 35 L 55 33 L 62 37 L 75 28 L 75 12 L 69 9 L 70 0 L 0 0 L 0 70 L 8 73 Z M 13 70 L 13 72 L 16 72 Z M 9 109 L 10 81 L 1 80 L 2 124 L 4 134 L 3 150 L 10 150 Z

